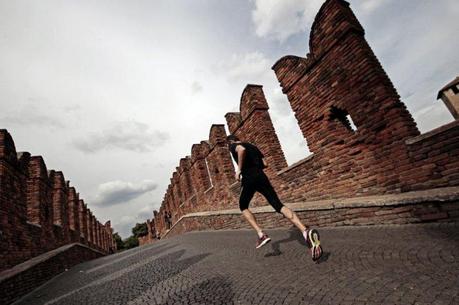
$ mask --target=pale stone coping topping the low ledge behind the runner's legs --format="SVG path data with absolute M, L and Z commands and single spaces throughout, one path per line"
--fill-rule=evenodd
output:
M 375 206 L 395 206 L 409 205 L 422 202 L 447 202 L 459 199 L 459 187 L 444 187 L 422 191 L 412 191 L 398 194 L 373 195 L 352 198 L 326 199 L 316 201 L 301 201 L 285 203 L 293 211 L 314 211 L 314 210 L 332 210 L 341 208 L 360 208 Z M 269 205 L 262 207 L 250 208 L 252 213 L 275 213 Z M 183 215 L 180 219 L 164 234 L 163 238 L 173 230 L 173 228 L 184 218 L 206 217 L 215 215 L 239 215 L 239 209 L 219 210 L 196 212 Z

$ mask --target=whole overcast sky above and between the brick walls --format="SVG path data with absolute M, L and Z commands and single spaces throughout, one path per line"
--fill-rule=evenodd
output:
M 308 154 L 271 66 L 304 56 L 322 0 L 0 0 L 0 128 L 123 237 L 213 123 L 264 86 L 289 164 Z M 422 132 L 459 74 L 456 0 L 350 1 Z

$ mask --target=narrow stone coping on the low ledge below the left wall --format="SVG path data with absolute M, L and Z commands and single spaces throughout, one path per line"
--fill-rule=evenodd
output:
M 63 253 L 65 251 L 67 251 L 68 249 L 72 248 L 72 247 L 82 247 L 82 248 L 87 248 L 91 251 L 94 251 L 94 252 L 98 252 L 102 255 L 105 255 L 104 253 L 102 253 L 101 251 L 99 250 L 96 250 L 94 248 L 90 248 L 86 245 L 83 245 L 83 244 L 80 244 L 80 243 L 72 243 L 72 244 L 68 244 L 68 245 L 64 245 L 62 247 L 59 247 L 57 249 L 54 249 L 54 250 L 51 250 L 51 251 L 48 251 L 48 252 L 45 252 L 43 254 L 40 254 L 38 256 L 35 256 L 29 260 L 26 260 L 25 262 L 23 263 L 20 263 L 20 264 L 17 264 L 15 266 L 13 266 L 12 268 L 10 269 L 6 269 L 6 270 L 3 270 L 2 272 L 0 272 L 0 282 L 3 282 L 4 280 L 7 280 L 11 277 L 14 277 L 16 276 L 17 274 L 21 273 L 21 272 L 24 272 L 40 263 L 43 263 L 47 260 L 49 260 L 50 258 L 56 256 L 56 255 L 59 255 L 60 253 Z

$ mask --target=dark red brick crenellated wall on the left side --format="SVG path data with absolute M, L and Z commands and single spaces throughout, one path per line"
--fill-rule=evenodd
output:
M 41 156 L 16 153 L 5 129 L 0 129 L 0 200 L 0 271 L 71 243 L 103 253 L 116 250 L 110 222 L 101 225 L 64 174 L 48 170 Z

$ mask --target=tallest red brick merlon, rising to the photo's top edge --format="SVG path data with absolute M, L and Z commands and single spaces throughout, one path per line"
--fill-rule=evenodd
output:
M 367 135 L 367 144 L 391 145 L 419 134 L 346 1 L 323 4 L 307 58 L 283 57 L 273 70 L 312 153 L 342 143 L 333 123 L 322 120 L 333 105 L 350 113 L 359 133 Z

